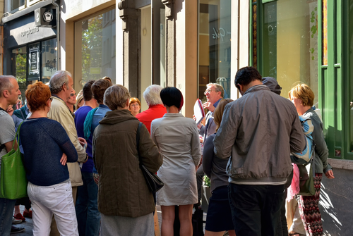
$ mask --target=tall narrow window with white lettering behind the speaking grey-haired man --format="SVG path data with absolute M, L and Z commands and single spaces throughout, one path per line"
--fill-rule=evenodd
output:
M 198 24 L 198 98 L 217 82 L 230 97 L 231 0 L 200 0 Z

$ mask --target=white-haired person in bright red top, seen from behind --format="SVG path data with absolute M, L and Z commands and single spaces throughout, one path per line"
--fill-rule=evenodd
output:
M 151 132 L 151 122 L 157 118 L 161 118 L 167 113 L 167 109 L 164 107 L 162 100 L 160 99 L 160 91 L 162 87 L 160 85 L 150 85 L 143 92 L 143 98 L 145 99 L 148 109 L 136 115 L 136 118 L 140 120 L 148 132 Z

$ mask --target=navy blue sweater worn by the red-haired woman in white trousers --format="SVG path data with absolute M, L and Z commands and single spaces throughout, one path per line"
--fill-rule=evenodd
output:
M 20 127 L 26 176 L 33 185 L 50 186 L 68 180 L 67 165 L 60 163 L 63 153 L 67 162 L 78 155 L 66 131 L 56 120 L 27 119 Z

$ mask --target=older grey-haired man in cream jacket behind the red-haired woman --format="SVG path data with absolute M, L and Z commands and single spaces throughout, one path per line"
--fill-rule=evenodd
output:
M 83 185 L 82 176 L 80 172 L 79 162 L 85 163 L 88 160 L 84 145 L 87 144 L 85 139 L 77 136 L 75 122 L 71 116 L 70 109 L 66 106 L 66 101 L 70 98 L 70 94 L 75 92 L 73 90 L 73 79 L 71 73 L 66 70 L 58 70 L 49 81 L 50 92 L 52 92 L 52 107 L 48 113 L 48 118 L 59 122 L 68 137 L 70 138 L 73 146 L 75 146 L 78 154 L 78 162 L 67 163 L 68 174 L 72 186 L 73 203 L 76 203 L 77 188 Z M 56 229 L 56 223 L 52 221 L 52 230 L 50 235 L 59 235 Z

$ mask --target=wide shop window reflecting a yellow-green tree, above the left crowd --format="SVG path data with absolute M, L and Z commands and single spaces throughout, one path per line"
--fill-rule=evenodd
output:
M 115 9 L 75 23 L 75 74 L 82 86 L 108 76 L 115 84 Z

